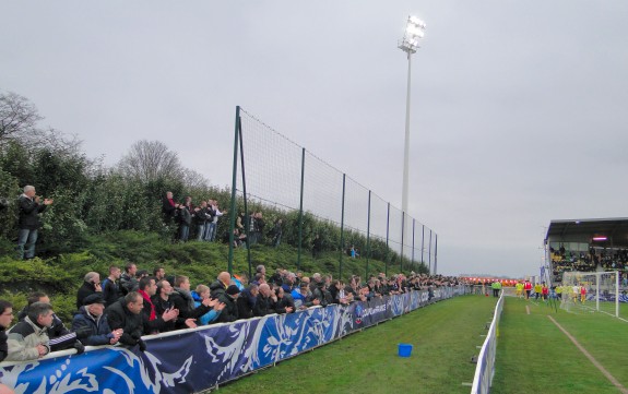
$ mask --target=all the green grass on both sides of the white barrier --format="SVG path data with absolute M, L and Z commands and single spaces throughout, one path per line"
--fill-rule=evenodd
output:
M 495 303 L 484 296 L 441 301 L 223 385 L 220 392 L 470 393 L 476 366 L 471 358 L 479 353 Z M 604 313 L 556 312 L 544 302 L 507 297 L 490 392 L 624 393 L 627 333 L 628 323 Z M 410 358 L 398 356 L 400 343 L 414 346 Z

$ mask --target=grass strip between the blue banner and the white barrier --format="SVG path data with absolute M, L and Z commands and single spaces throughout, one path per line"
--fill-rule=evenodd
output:
M 226 393 L 469 393 L 495 310 L 463 296 L 418 309 L 223 386 Z M 410 358 L 398 344 L 413 344 Z

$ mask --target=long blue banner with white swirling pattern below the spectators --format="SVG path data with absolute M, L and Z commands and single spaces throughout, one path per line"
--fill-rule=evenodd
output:
M 60 351 L 36 361 L 2 362 L 0 373 L 19 394 L 195 393 L 463 292 L 441 288 L 429 300 L 428 291 L 413 291 L 145 336 L 144 353 L 88 347 L 82 355 Z

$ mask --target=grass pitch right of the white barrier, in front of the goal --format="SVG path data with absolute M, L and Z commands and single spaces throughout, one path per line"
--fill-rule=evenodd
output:
M 543 302 L 509 297 L 500 322 L 491 394 L 619 393 L 548 315 L 628 387 L 628 323 L 604 313 L 556 312 Z

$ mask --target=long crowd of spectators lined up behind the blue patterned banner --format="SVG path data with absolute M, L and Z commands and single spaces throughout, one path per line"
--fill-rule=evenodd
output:
M 145 272 L 145 271 L 144 271 Z M 277 270 L 268 276 L 259 265 L 254 276 L 217 275 L 209 286 L 191 289 L 187 276 L 167 276 L 156 266 L 146 275 L 129 263 L 125 273 L 109 267 L 109 275 L 88 272 L 76 290 L 76 311 L 69 327 L 55 314 L 50 298 L 34 292 L 13 321 L 11 303 L 0 300 L 0 360 L 34 360 L 50 351 L 73 348 L 79 354 L 84 345 L 138 346 L 144 350 L 143 335 L 164 333 L 199 325 L 233 322 L 272 313 L 293 313 L 310 307 L 348 305 L 411 290 L 433 290 L 461 284 L 455 277 L 425 274 L 382 273 L 365 280 L 352 275 L 347 282 L 332 275 Z

